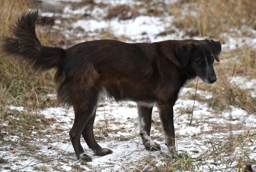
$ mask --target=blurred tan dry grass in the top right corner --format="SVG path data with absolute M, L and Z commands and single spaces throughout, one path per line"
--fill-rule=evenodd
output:
M 168 9 L 175 16 L 174 25 L 190 36 L 220 38 L 232 28 L 256 28 L 256 3 L 253 0 L 181 0 Z

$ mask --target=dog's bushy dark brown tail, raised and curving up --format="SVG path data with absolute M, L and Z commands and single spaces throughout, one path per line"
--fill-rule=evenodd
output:
M 30 70 L 43 72 L 58 67 L 66 51 L 41 45 L 35 34 L 37 18 L 38 10 L 23 13 L 16 24 L 11 27 L 15 37 L 2 39 L 1 51 L 6 56 L 18 57 L 21 61 L 26 61 Z

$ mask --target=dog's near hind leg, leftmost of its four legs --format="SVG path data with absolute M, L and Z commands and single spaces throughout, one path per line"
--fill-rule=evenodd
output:
M 82 101 L 79 100 L 77 101 L 77 103 L 74 103 L 74 124 L 69 131 L 69 135 L 77 158 L 89 162 L 92 161 L 92 158 L 84 153 L 84 150 L 81 146 L 80 138 L 83 128 L 86 126 L 88 119 L 94 112 L 94 108 L 97 103 L 97 96 L 90 95 L 87 97 L 90 98 Z

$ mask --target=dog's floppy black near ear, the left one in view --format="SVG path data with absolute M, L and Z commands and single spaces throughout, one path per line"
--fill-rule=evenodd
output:
M 175 49 L 176 57 L 178 58 L 182 68 L 185 68 L 189 64 L 190 53 L 194 48 L 193 43 L 186 43 Z

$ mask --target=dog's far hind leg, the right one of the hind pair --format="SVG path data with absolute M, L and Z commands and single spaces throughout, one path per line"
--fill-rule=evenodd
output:
M 96 115 L 96 108 L 94 109 L 93 114 L 88 119 L 88 122 L 82 131 L 82 135 L 88 147 L 94 151 L 95 155 L 98 155 L 98 156 L 108 155 L 113 152 L 110 149 L 101 148 L 101 146 L 98 145 L 98 143 L 94 138 L 93 124 L 94 124 L 95 115 Z

